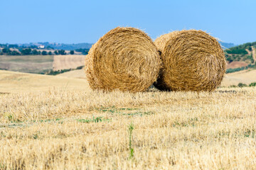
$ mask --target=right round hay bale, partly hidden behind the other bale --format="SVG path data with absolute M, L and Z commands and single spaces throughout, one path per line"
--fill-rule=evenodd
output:
M 154 86 L 170 91 L 213 91 L 225 74 L 225 53 L 202 30 L 174 31 L 156 38 L 163 69 Z

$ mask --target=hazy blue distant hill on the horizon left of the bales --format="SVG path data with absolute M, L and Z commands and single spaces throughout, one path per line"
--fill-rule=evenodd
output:
M 64 43 L 56 43 L 56 42 L 31 42 L 26 44 L 18 44 L 20 47 L 31 47 L 31 46 L 40 46 L 43 45 L 45 47 L 52 47 L 55 50 L 76 50 L 76 49 L 90 49 L 92 44 L 90 43 L 78 43 L 78 44 L 64 44 Z

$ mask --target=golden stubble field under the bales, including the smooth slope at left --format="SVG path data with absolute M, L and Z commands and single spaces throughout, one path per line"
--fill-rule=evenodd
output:
M 0 169 L 255 169 L 255 87 L 105 93 L 0 74 Z

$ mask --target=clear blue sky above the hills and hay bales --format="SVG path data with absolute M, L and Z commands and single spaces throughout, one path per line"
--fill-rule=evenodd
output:
M 171 30 L 206 30 L 236 45 L 256 41 L 255 0 L 2 0 L 0 43 L 96 42 L 117 26 L 155 39 Z

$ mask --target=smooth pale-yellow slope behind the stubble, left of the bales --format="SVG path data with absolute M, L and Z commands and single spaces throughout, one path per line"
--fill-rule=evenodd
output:
M 0 70 L 0 93 L 21 93 L 30 91 L 82 90 L 90 88 L 85 79 L 55 77 Z

